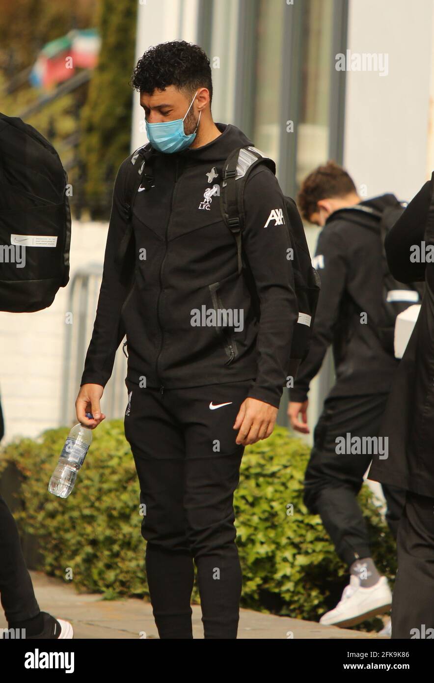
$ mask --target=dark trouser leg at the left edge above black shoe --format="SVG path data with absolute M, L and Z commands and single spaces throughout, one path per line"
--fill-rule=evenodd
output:
M 32 619 L 40 613 L 21 550 L 18 528 L 1 496 L 0 599 L 8 625 Z

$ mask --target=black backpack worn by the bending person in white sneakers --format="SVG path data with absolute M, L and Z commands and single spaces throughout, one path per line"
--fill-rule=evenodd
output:
M 371 216 L 377 221 L 375 229 L 379 234 L 381 240 L 381 264 L 382 264 L 382 297 L 381 297 L 381 320 L 379 325 L 374 325 L 368 320 L 368 325 L 375 332 L 381 346 L 385 351 L 394 356 L 394 329 L 396 316 L 402 311 L 405 311 L 409 306 L 421 300 L 423 294 L 423 283 L 407 283 L 394 279 L 390 273 L 386 249 L 384 248 L 384 240 L 389 230 L 401 214 L 405 210 L 405 204 L 401 204 L 396 200 L 396 204 L 387 206 L 383 211 L 378 211 L 370 206 L 350 206 L 348 208 L 338 209 L 333 214 L 333 219 L 338 217 L 345 217 L 345 220 L 357 223 L 363 227 L 368 227 L 366 223 L 366 216 Z M 364 220 L 365 219 L 365 220 Z

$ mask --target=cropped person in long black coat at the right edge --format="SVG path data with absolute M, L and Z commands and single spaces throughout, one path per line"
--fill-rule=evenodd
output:
M 404 283 L 424 281 L 414 331 L 396 372 L 380 432 L 387 460 L 373 458 L 368 477 L 403 486 L 397 538 L 392 638 L 434 639 L 434 173 L 390 230 L 390 271 Z M 415 249 L 416 247 L 416 249 Z

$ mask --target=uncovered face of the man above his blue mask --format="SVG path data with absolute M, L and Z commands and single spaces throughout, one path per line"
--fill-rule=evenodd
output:
M 175 85 L 168 85 L 164 90 L 155 89 L 152 94 L 141 92 L 140 104 L 145 111 L 145 119 L 149 124 L 175 121 L 186 116 L 184 120 L 184 133 L 190 135 L 197 126 L 198 117 L 194 111 L 194 104 L 196 104 L 197 98 L 186 115 L 193 97 L 194 93 L 189 97 L 185 92 L 177 89 Z

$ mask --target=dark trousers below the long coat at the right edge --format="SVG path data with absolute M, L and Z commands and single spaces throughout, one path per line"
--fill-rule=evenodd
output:
M 434 498 L 407 491 L 399 525 L 392 638 L 434 639 Z

